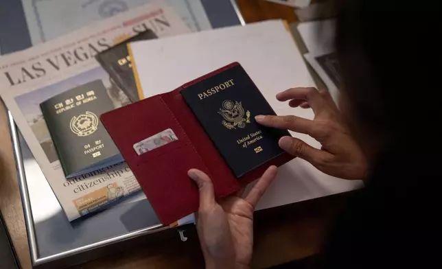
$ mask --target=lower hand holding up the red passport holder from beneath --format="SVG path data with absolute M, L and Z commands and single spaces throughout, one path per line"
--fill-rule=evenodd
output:
M 242 191 L 216 202 L 207 174 L 190 169 L 189 177 L 198 185 L 200 208 L 196 229 L 206 268 L 249 268 L 253 252 L 253 211 L 259 198 L 277 174 L 271 166 L 242 199 Z

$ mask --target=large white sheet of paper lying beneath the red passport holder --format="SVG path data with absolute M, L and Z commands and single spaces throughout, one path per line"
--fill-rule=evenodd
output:
M 131 44 L 141 88 L 145 97 L 165 93 L 223 67 L 240 62 L 278 115 L 312 119 L 311 109 L 290 108 L 275 94 L 293 86 L 314 86 L 294 40 L 282 21 L 226 27 L 210 32 L 185 34 Z M 305 134 L 294 137 L 319 148 Z M 362 181 L 327 176 L 310 163 L 296 158 L 279 168 L 275 182 L 261 198 L 257 209 L 277 207 L 349 191 Z

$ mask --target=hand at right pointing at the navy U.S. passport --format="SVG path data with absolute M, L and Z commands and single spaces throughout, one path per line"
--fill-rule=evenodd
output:
M 282 137 L 279 146 L 283 150 L 312 163 L 314 167 L 330 176 L 364 179 L 367 161 L 327 91 L 293 88 L 278 93 L 276 97 L 279 101 L 289 101 L 291 107 L 312 108 L 314 119 L 259 115 L 255 117 L 256 121 L 264 126 L 309 134 L 322 145 L 321 150 L 318 150 L 300 139 Z

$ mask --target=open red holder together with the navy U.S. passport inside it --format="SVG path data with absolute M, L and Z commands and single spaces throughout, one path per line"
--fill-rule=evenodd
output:
M 259 178 L 293 156 L 278 140 L 287 131 L 264 128 L 256 115 L 275 115 L 239 63 L 221 67 L 174 91 L 104 113 L 100 119 L 163 224 L 198 210 L 189 169 L 210 176 L 216 198 Z M 125 122 L 121 128 L 121 122 Z M 174 141 L 138 154 L 133 145 L 164 130 Z

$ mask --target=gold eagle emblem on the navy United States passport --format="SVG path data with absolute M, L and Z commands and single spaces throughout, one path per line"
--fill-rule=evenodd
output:
M 222 121 L 222 125 L 229 130 L 236 129 L 236 127 L 244 128 L 246 124 L 250 124 L 250 111 L 247 110 L 244 113 L 241 102 L 224 100 L 218 114 L 225 119 L 225 121 Z

